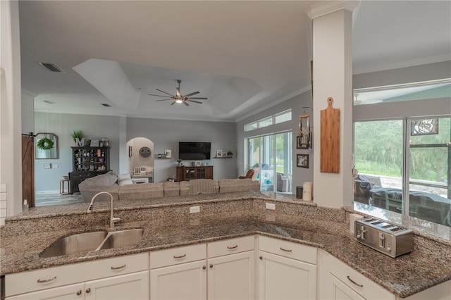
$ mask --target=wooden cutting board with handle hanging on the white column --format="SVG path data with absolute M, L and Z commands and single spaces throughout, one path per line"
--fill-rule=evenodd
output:
M 340 172 L 340 109 L 332 107 L 332 97 L 327 108 L 321 110 L 320 171 Z

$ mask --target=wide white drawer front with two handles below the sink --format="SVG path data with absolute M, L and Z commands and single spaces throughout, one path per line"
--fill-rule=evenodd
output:
M 149 269 L 149 254 L 61 265 L 5 276 L 6 296 Z

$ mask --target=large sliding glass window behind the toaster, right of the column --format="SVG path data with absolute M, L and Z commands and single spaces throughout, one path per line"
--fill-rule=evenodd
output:
M 354 122 L 354 208 L 451 227 L 450 141 L 448 116 Z

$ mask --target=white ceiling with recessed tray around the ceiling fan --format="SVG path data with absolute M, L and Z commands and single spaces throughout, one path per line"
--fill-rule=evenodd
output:
M 305 11 L 317 3 L 20 1 L 22 87 L 35 111 L 240 120 L 310 88 Z M 362 1 L 354 74 L 450 60 L 450 13 L 450 1 Z M 148 96 L 175 94 L 178 79 L 208 100 Z

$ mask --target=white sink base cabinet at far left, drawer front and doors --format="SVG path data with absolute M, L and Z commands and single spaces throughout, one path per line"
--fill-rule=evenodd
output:
M 5 294 L 7 300 L 149 299 L 149 254 L 6 275 Z

